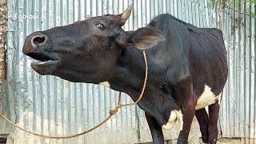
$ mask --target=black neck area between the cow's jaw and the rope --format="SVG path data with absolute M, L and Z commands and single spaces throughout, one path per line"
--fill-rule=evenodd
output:
M 122 91 L 129 94 L 135 101 L 138 99 L 139 93 L 145 78 L 145 59 L 139 50 L 126 49 L 122 51 L 116 66 L 116 74 L 110 79 L 111 89 Z

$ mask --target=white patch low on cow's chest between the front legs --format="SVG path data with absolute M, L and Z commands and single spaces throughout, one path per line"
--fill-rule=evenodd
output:
M 182 125 L 183 125 L 183 119 L 182 119 L 182 110 L 171 110 L 170 111 L 170 117 L 168 122 L 162 126 L 163 129 L 165 130 L 170 130 L 175 122 L 179 123 L 179 128 L 182 130 Z

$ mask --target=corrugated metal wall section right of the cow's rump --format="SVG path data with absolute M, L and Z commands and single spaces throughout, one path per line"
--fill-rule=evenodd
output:
M 230 70 L 220 114 L 222 134 L 256 143 L 256 18 L 245 15 L 256 14 L 256 6 L 234 2 L 232 9 L 243 14 L 229 9 L 223 14 Z

